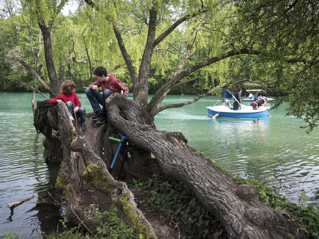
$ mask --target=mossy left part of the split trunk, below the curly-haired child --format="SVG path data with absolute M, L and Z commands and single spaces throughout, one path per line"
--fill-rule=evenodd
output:
M 58 151 L 63 160 L 57 176 L 56 187 L 63 190 L 67 201 L 68 220 L 71 223 L 80 222 L 90 231 L 95 230 L 97 225 L 95 220 L 86 216 L 73 203 L 79 188 L 90 183 L 100 192 L 110 196 L 119 209 L 124 211 L 125 208 L 124 213 L 131 220 L 131 224 L 137 228 L 138 234 L 141 234 L 143 238 L 156 238 L 152 225 L 137 209 L 133 193 L 125 183 L 116 181 L 108 172 L 107 165 L 113 159 L 112 156 L 117 148 L 112 141 L 109 143 L 109 125 L 93 125 L 92 121 L 87 118 L 87 131 L 82 132 L 80 127 L 73 127 L 71 115 L 64 104 L 52 106 L 42 102 L 38 104 L 37 110 L 35 125 L 39 126 L 40 132 L 45 134 L 46 138 L 54 138 L 60 145 Z M 92 145 L 94 150 L 91 148 Z M 105 155 L 104 161 L 102 160 L 103 154 Z M 49 158 L 48 162 L 56 161 L 54 154 L 51 156 L 53 158 Z M 120 160 L 116 164 L 117 168 L 119 162 Z

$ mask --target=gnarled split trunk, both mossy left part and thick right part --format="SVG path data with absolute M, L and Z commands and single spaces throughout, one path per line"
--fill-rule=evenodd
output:
M 39 105 L 41 107 L 41 104 L 38 103 L 38 107 Z M 122 135 L 128 137 L 130 145 L 137 145 L 151 152 L 165 174 L 189 186 L 204 206 L 220 219 L 229 238 L 305 237 L 299 231 L 298 223 L 291 221 L 286 212 L 267 206 L 259 198 L 256 188 L 249 185 L 238 185 L 217 165 L 196 154 L 196 150 L 187 145 L 187 140 L 181 133 L 156 130 L 152 117 L 135 101 L 112 94 L 107 99 L 106 107 L 110 124 L 97 126 L 88 119 L 88 129 L 85 132 L 80 132 L 78 129 L 78 134 L 63 104 L 51 106 L 49 109 L 39 109 L 51 115 L 48 117 L 50 127 L 55 127 L 52 115 L 56 114 L 58 117 L 57 128 L 63 147 L 63 162 L 57 185 L 64 189 L 69 208 L 72 209 L 69 212 L 85 219 L 83 212 L 72 202 L 76 198 L 78 188 L 89 182 L 97 190 L 112 198 L 113 203 L 124 211 L 144 238 L 156 238 L 151 224 L 136 208 L 134 195 L 128 190 L 125 183 L 114 180 L 108 172 L 110 161 L 118 145 L 108 140 L 109 136 L 116 137 L 116 134 L 109 131 L 112 125 Z M 35 121 L 37 120 L 41 119 L 35 117 Z M 42 130 L 45 128 L 42 127 Z M 100 142 L 103 142 L 103 145 Z M 140 154 L 140 150 L 134 148 L 132 155 Z M 102 152 L 105 155 L 104 161 L 101 159 Z M 131 161 L 126 165 L 125 173 L 128 175 L 131 175 L 132 172 L 136 173 L 137 167 L 132 164 L 134 162 Z M 157 169 L 154 167 L 153 170 Z M 137 171 L 137 174 L 142 175 L 143 173 L 144 169 Z

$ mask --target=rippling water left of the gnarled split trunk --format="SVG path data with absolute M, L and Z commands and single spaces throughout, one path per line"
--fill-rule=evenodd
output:
M 33 127 L 31 93 L 0 92 L 0 102 L 0 232 L 20 230 L 20 236 L 42 238 L 42 232 L 56 231 L 59 221 L 52 216 L 60 209 L 47 197 L 59 166 L 44 163 L 43 135 Z M 13 210 L 6 204 L 31 197 Z

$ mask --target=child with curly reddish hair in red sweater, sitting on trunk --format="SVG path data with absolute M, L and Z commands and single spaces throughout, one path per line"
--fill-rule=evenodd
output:
M 74 120 L 75 120 L 75 113 L 76 113 L 77 117 L 80 118 L 81 129 L 82 131 L 85 131 L 86 130 L 86 125 L 85 125 L 86 111 L 85 111 L 85 108 L 81 106 L 78 96 L 74 93 L 75 87 L 76 85 L 73 81 L 64 81 L 61 85 L 62 94 L 58 95 L 56 98 L 51 99 L 49 101 L 49 104 L 54 105 L 56 103 L 61 104 L 62 102 L 64 102 L 73 117 L 73 120 L 72 120 L 73 125 L 75 123 Z

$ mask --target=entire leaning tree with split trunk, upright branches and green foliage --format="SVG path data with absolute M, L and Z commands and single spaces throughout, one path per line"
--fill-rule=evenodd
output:
M 51 30 L 55 14 L 60 12 L 65 1 L 53 5 L 52 11 L 43 11 L 43 8 L 48 10 L 52 4 L 43 6 L 42 3 L 30 1 L 29 5 L 37 16 L 42 32 L 50 79 L 48 90 L 54 97 L 59 94 L 65 65 L 77 52 L 73 41 L 70 56 L 62 62 L 58 76 L 53 61 Z M 211 94 L 214 89 L 227 83 L 225 78 L 230 76 L 230 70 L 234 71 L 232 74 L 241 76 L 247 65 L 255 70 L 250 74 L 259 73 L 259 77 L 272 74 L 271 77 L 275 77 L 271 78 L 273 84 L 279 86 L 283 82 L 290 83 L 290 88 L 283 92 L 289 95 L 293 91 L 294 80 L 287 76 L 309 76 L 305 75 L 307 69 L 313 69 L 318 59 L 316 55 L 311 59 L 303 58 L 307 46 L 314 49 L 318 44 L 312 39 L 302 42 L 305 39 L 298 35 L 295 25 L 291 23 L 295 23 L 294 14 L 298 11 L 303 12 L 298 20 L 303 21 L 304 25 L 301 25 L 304 29 L 315 26 L 318 20 L 317 6 L 314 4 L 309 7 L 309 3 L 303 1 L 259 1 L 258 4 L 252 4 L 247 1 L 135 3 L 85 0 L 80 11 L 81 16 L 87 14 L 87 19 L 92 21 L 90 30 L 100 34 L 97 38 L 104 36 L 104 30 L 113 31 L 117 49 L 122 55 L 115 62 L 125 62 L 134 87 L 134 99 L 111 95 L 106 102 L 109 123 L 96 125 L 87 118 L 88 130 L 85 132 L 73 127 L 70 113 L 64 105 L 50 106 L 48 100 L 37 103 L 34 126 L 45 135 L 44 145 L 48 148 L 46 160 L 61 162 L 56 185 L 64 191 L 70 219 L 80 219 L 85 227 L 94 229 L 93 220 L 88 219 L 75 204 L 79 188 L 90 183 L 111 197 L 137 228 L 138 234 L 144 238 L 156 238 L 152 225 L 136 207 L 132 192 L 108 171 L 116 150 L 114 143 L 108 140 L 109 136 L 116 137 L 110 130 L 112 128 L 125 135 L 130 144 L 140 147 L 134 148 L 131 158 L 124 163 L 122 177 L 147 179 L 153 172 L 162 171 L 182 181 L 220 219 L 229 238 L 304 238 L 298 223 L 291 220 L 289 214 L 264 204 L 254 187 L 236 184 L 225 171 L 189 147 L 181 133 L 159 131 L 153 121 L 162 110 L 191 104 Z M 290 31 L 290 34 L 282 36 L 281 33 L 286 31 Z M 311 32 L 313 38 L 314 32 Z M 114 46 L 114 38 L 104 37 L 110 41 L 109 45 Z M 290 38 L 298 41 L 297 48 L 296 44 L 290 45 L 293 44 Z M 298 54 L 293 54 L 292 49 L 296 49 Z M 89 52 L 87 48 L 86 52 Z M 40 80 L 41 77 L 23 59 L 18 60 Z M 106 59 L 101 60 L 105 62 Z M 170 67 L 175 64 L 173 73 L 167 74 L 167 82 L 148 102 L 150 72 L 153 69 L 161 71 L 160 64 L 164 65 L 167 61 Z M 232 68 L 227 68 L 228 65 Z M 304 75 L 301 75 L 301 71 Z M 218 81 L 211 82 L 207 77 L 207 91 L 197 98 L 177 105 L 161 105 L 174 86 L 198 72 L 216 77 Z M 305 77 L 310 83 L 311 78 L 308 78 Z M 312 116 L 317 115 L 313 112 Z M 151 158 L 151 154 L 155 158 Z M 115 165 L 114 169 L 119 166 Z

